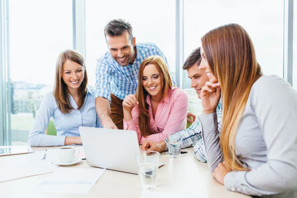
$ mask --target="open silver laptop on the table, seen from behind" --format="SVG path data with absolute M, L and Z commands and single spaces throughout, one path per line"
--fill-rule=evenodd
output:
M 90 166 L 138 174 L 140 152 L 135 131 L 79 127 Z

